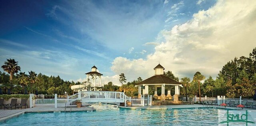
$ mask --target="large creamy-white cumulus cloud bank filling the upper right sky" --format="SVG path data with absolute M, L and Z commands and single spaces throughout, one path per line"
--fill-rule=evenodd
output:
M 192 78 L 196 71 L 215 77 L 228 61 L 248 56 L 256 47 L 255 6 L 252 1 L 220 0 L 208 10 L 195 13 L 188 22 L 162 30 L 164 42 L 146 59 L 117 57 L 111 70 L 124 73 L 130 80 L 138 76 L 146 79 L 154 75 L 153 68 L 160 62 L 179 78 Z M 144 45 L 148 44 L 156 43 Z

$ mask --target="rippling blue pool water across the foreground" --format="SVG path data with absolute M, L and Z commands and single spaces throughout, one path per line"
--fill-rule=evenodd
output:
M 108 107 L 107 107 L 108 106 Z M 0 126 L 166 126 L 218 125 L 216 108 L 130 110 L 110 104 L 93 104 L 96 112 L 27 113 L 0 122 Z

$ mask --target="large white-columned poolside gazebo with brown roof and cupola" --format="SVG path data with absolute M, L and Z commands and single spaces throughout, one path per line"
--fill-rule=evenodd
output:
M 161 88 L 161 100 L 165 100 L 166 95 L 164 94 L 164 90 L 167 88 L 167 97 L 171 96 L 170 88 L 171 86 L 175 87 L 175 94 L 174 94 L 174 101 L 178 101 L 178 96 L 180 95 L 180 87 L 182 87 L 182 84 L 180 82 L 177 82 L 171 78 L 168 78 L 164 76 L 164 67 L 158 64 L 155 68 L 155 75 L 143 80 L 142 82 L 139 82 L 135 84 L 135 86 L 138 86 L 139 89 L 139 96 L 142 94 L 148 94 L 148 87 L 154 87 L 155 92 L 154 96 L 157 95 L 157 88 Z M 142 91 L 142 92 L 141 92 Z

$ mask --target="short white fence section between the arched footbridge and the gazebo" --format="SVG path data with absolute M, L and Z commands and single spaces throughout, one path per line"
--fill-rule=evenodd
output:
M 152 105 L 152 95 L 144 96 L 142 95 L 141 98 L 138 97 L 125 97 L 125 104 L 127 106 L 127 102 L 131 102 L 131 106 L 145 106 L 145 105 Z

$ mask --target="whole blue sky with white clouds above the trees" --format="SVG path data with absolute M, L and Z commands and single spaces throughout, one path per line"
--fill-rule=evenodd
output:
M 241 8 L 253 18 L 248 12 L 250 9 L 243 9 L 249 5 L 242 4 L 244 6 L 237 6 L 237 10 Z M 146 79 L 153 75 L 152 68 L 158 62 L 180 78 L 192 77 L 196 71 L 203 72 L 206 77 L 216 76 L 234 56 L 248 55 L 255 47 L 249 42 L 244 48 L 248 51 L 238 50 L 233 54 L 227 48 L 230 43 L 223 43 L 229 37 L 206 42 L 216 38 L 216 32 L 223 31 L 216 27 L 217 24 L 212 25 L 218 22 L 214 22 L 216 19 L 230 23 L 224 25 L 228 32 L 234 30 L 232 27 L 238 22 L 231 20 L 235 17 L 228 22 L 223 14 L 236 12 L 230 9 L 232 5 L 237 4 L 222 0 L 1 0 L 0 62 L 3 64 L 6 58 L 14 58 L 22 72 L 32 70 L 74 81 L 83 81 L 84 73 L 95 65 L 104 74 L 104 82 L 113 81 L 114 84 L 118 83 L 120 73 L 129 81 L 138 76 Z M 255 7 L 250 8 L 254 13 Z M 222 9 L 223 13 L 218 11 Z M 239 13 L 236 12 L 237 16 Z M 241 15 L 238 19 L 251 19 L 248 16 Z M 255 24 L 249 21 L 245 23 Z M 194 24 L 197 25 L 193 27 Z M 200 38 L 190 38 L 188 34 L 192 32 Z M 206 49 L 202 50 L 206 53 L 194 50 L 195 47 Z M 226 52 L 214 50 L 216 48 L 224 48 Z M 205 54 L 197 61 L 207 61 L 206 65 L 198 64 L 189 56 L 193 51 L 194 55 Z M 207 57 L 218 53 L 230 55 L 214 60 L 216 66 L 212 66 Z

